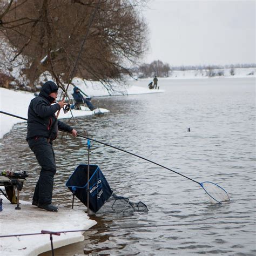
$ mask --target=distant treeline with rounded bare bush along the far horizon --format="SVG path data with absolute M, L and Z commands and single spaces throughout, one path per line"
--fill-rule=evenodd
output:
M 138 73 L 139 78 L 147 77 L 169 77 L 172 71 L 187 71 L 187 70 L 207 70 L 207 76 L 224 76 L 224 69 L 230 69 L 230 73 L 234 75 L 234 69 L 238 68 L 256 68 L 255 63 L 250 64 L 227 64 L 227 65 L 181 65 L 170 66 L 168 63 L 163 63 L 161 60 L 154 60 L 150 64 L 143 63 L 132 69 L 133 73 Z M 214 72 L 218 70 L 218 72 Z

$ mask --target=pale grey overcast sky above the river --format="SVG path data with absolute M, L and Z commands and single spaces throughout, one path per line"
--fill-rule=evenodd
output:
M 150 50 L 144 62 L 256 63 L 255 3 L 151 0 L 144 12 L 150 29 Z

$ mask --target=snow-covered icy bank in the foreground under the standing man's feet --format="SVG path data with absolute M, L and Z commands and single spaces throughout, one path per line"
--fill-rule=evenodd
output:
M 59 207 L 58 212 L 46 212 L 26 201 L 20 201 L 21 210 L 3 197 L 0 235 L 41 233 L 42 230 L 62 232 L 87 230 L 96 225 L 83 210 Z M 53 235 L 53 248 L 84 240 L 83 232 Z M 38 255 L 51 250 L 50 235 L 25 235 L 0 238 L 0 255 Z

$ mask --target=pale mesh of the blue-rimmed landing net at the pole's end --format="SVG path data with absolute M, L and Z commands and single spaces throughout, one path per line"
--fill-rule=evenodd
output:
M 200 185 L 204 188 L 207 196 L 211 200 L 211 203 L 216 204 L 230 201 L 228 193 L 218 184 L 212 183 L 210 181 L 205 181 L 203 183 L 200 183 Z

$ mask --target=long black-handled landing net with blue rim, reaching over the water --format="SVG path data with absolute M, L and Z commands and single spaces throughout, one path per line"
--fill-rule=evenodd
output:
M 17 118 L 20 118 L 20 119 L 23 119 L 23 120 L 27 120 L 26 118 L 23 118 L 23 117 L 19 117 L 19 116 L 16 116 L 15 114 L 10 114 L 10 113 L 7 113 L 7 112 L 3 112 L 3 111 L 0 111 L 0 113 L 3 113 L 3 114 L 8 114 L 9 116 L 12 116 L 12 117 L 17 117 Z M 59 129 L 60 130 L 60 129 Z M 60 131 L 63 131 L 63 130 L 60 130 Z M 63 132 L 66 132 L 66 131 L 63 131 Z M 204 191 L 208 194 L 208 196 L 210 197 L 212 203 L 223 203 L 223 202 L 226 202 L 226 201 L 230 201 L 230 197 L 228 196 L 228 193 L 224 190 L 224 188 L 222 188 L 221 186 L 219 186 L 218 184 L 215 184 L 211 181 L 204 181 L 203 183 L 200 183 L 194 179 L 191 179 L 187 176 L 185 176 L 184 174 L 181 174 L 179 172 L 176 172 L 164 165 L 161 165 L 161 164 L 158 164 L 150 159 L 147 159 L 145 157 L 142 157 L 142 156 L 139 156 L 138 154 L 134 154 L 132 152 L 129 152 L 129 151 L 126 151 L 126 150 L 123 150 L 123 149 L 120 149 L 119 147 L 116 147 L 116 146 L 112 146 L 110 144 L 107 144 L 107 143 L 104 143 L 104 142 L 100 142 L 99 140 L 96 140 L 96 139 L 92 139 L 92 138 L 89 138 L 89 137 L 86 137 L 86 136 L 83 136 L 83 135 L 79 135 L 77 134 L 78 137 L 81 137 L 81 138 L 84 138 L 84 139 L 89 139 L 89 140 L 92 140 L 93 142 L 97 142 L 97 143 L 100 143 L 100 144 L 103 144 L 105 146 L 108 146 L 108 147 L 112 147 L 113 149 L 116 149 L 116 150 L 119 150 L 119 151 L 123 151 L 127 154 L 131 154 L 132 156 L 135 156 L 135 157 L 138 157 L 140 159 L 143 159 L 143 160 L 146 160 L 146 161 L 149 161 L 150 163 L 152 164 L 155 164 L 155 165 L 158 165 L 166 170 L 169 170 L 171 172 L 174 172 L 176 174 L 179 174 L 180 176 L 186 178 L 186 179 L 189 179 L 191 181 L 194 181 L 195 183 L 199 184 L 203 189 Z

